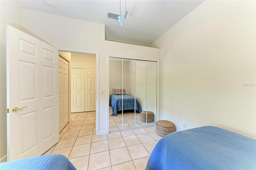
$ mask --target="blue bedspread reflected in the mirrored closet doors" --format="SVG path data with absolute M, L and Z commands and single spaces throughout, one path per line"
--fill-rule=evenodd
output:
M 134 109 L 134 97 L 124 94 L 123 99 L 123 110 Z M 110 106 L 112 107 L 113 114 L 111 116 L 116 116 L 117 112 L 122 110 L 122 95 L 110 95 Z M 140 103 L 136 99 L 136 111 L 141 112 Z

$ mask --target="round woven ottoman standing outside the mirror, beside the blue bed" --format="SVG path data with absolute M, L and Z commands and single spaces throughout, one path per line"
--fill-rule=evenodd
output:
M 175 132 L 174 124 L 168 120 L 158 120 L 156 122 L 156 133 L 160 136 L 166 136 Z

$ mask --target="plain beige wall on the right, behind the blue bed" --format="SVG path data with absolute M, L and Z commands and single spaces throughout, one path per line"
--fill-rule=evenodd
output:
M 154 42 L 162 118 L 256 138 L 256 1 L 205 1 Z

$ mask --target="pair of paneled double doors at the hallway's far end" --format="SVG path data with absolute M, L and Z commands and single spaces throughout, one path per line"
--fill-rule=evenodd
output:
M 71 68 L 71 112 L 96 110 L 96 70 Z

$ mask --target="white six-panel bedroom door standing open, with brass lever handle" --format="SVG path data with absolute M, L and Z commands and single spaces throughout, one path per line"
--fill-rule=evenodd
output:
M 12 26 L 6 30 L 10 161 L 39 156 L 58 142 L 58 49 Z

